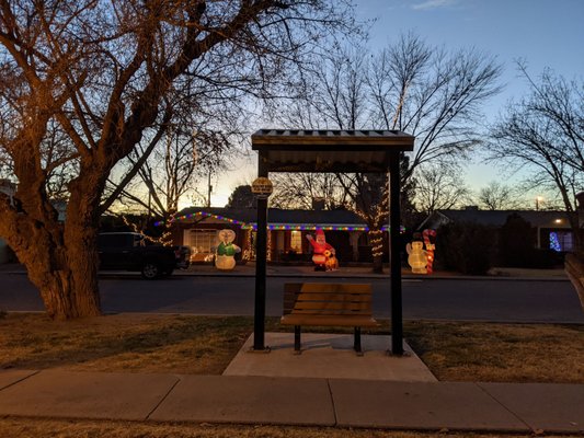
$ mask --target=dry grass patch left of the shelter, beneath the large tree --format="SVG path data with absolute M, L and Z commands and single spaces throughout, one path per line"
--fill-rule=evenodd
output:
M 220 374 L 252 331 L 250 318 L 118 314 L 53 322 L 0 320 L 0 369 L 60 368 Z

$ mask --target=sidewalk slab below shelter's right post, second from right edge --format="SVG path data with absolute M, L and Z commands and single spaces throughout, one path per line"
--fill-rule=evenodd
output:
M 330 380 L 339 426 L 527 431 L 474 383 Z

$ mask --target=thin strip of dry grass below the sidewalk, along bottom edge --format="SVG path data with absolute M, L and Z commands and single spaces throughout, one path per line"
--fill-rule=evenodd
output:
M 128 422 L 0 418 L 2 438 L 495 438 L 500 434 L 409 433 L 332 427 L 145 424 Z M 529 438 L 533 435 L 508 435 Z M 546 435 L 547 438 L 556 436 Z M 562 438 L 571 436 L 562 435 Z M 559 437 L 557 437 L 559 438 Z

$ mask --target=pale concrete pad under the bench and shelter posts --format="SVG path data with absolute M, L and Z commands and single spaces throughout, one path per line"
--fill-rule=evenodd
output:
M 353 335 L 346 334 L 304 333 L 300 355 L 294 353 L 294 333 L 266 333 L 265 345 L 271 353 L 250 353 L 251 335 L 224 376 L 436 381 L 408 344 L 408 356 L 388 356 L 391 336 L 362 335 L 360 357 L 353 349 Z

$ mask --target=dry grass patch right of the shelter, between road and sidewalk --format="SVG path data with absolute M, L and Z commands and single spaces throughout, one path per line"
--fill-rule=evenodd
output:
M 584 326 L 408 322 L 409 344 L 442 381 L 584 383 Z

